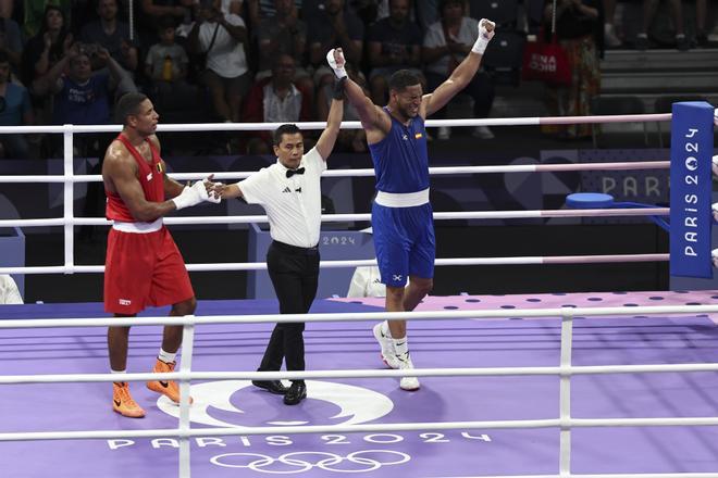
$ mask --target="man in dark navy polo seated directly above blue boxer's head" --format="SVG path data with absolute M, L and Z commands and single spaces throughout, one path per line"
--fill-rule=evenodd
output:
M 367 34 L 369 84 L 374 104 L 387 101 L 388 78 L 398 70 L 420 73 L 421 30 L 409 20 L 409 0 L 389 0 L 389 16 L 373 24 Z

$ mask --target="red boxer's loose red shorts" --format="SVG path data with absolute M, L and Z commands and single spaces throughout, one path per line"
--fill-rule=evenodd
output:
M 104 311 L 136 314 L 147 306 L 176 304 L 191 299 L 185 261 L 170 231 L 122 232 L 108 236 L 104 261 Z

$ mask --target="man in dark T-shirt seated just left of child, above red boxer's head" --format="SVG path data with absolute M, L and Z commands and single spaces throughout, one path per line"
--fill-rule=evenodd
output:
M 120 66 L 134 73 L 137 70 L 137 48 L 129 39 L 129 26 L 117 20 L 117 0 L 99 0 L 97 14 L 99 20 L 83 27 L 81 41 L 103 47 Z

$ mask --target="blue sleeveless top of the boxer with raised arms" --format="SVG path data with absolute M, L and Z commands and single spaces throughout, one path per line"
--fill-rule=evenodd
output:
M 386 106 L 384 111 L 388 113 Z M 369 144 L 374 162 L 376 190 L 417 192 L 429 187 L 429 153 L 424 120 L 416 116 L 405 126 L 389 114 L 392 128 L 384 139 Z

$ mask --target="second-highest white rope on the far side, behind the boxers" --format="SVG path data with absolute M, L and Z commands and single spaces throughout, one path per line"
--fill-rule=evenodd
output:
M 640 171 L 668 169 L 670 161 L 626 161 L 615 163 L 571 163 L 571 164 L 512 164 L 496 166 L 443 166 L 430 167 L 429 174 L 434 176 L 449 174 L 494 174 L 494 173 L 556 173 L 580 171 Z M 210 174 L 214 179 L 242 179 L 249 177 L 253 171 L 231 173 L 170 173 L 175 180 L 205 179 Z M 368 177 L 374 176 L 374 169 L 327 169 L 322 177 Z M 99 174 L 83 175 L 11 175 L 0 176 L 0 183 L 99 183 Z

